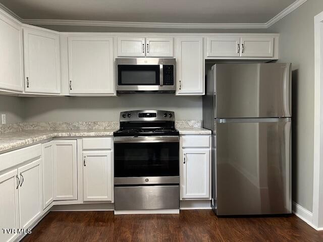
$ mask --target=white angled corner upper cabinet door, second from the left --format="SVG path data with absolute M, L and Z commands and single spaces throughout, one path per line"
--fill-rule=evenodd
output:
M 58 34 L 24 29 L 25 92 L 61 92 L 60 39 Z

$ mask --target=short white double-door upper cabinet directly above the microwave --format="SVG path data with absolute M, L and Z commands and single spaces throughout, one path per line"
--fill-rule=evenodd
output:
M 119 57 L 173 57 L 171 37 L 118 37 Z

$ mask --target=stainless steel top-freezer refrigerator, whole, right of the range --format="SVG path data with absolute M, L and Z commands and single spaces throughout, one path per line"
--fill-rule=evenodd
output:
M 291 64 L 217 64 L 206 77 L 212 208 L 291 213 Z

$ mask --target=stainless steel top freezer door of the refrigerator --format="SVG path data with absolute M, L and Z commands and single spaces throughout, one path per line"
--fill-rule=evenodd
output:
M 290 117 L 291 64 L 217 64 L 217 118 Z

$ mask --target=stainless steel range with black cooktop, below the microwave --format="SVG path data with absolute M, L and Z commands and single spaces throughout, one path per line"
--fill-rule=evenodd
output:
M 174 112 L 121 112 L 114 141 L 115 210 L 179 209 Z

